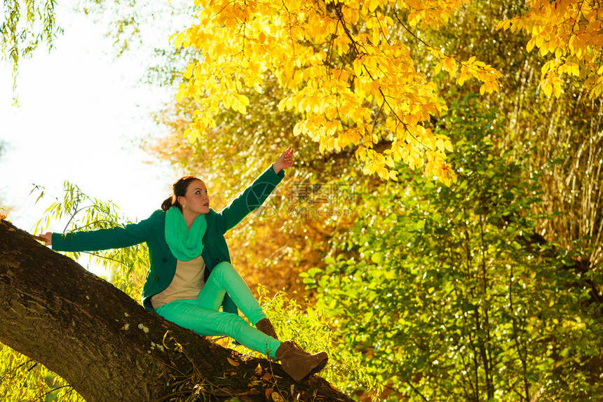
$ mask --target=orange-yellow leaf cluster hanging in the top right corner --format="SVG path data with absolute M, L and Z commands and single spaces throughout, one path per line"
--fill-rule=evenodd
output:
M 499 29 L 524 31 L 527 51 L 553 57 L 542 67 L 546 96 L 561 96 L 563 74 L 585 81 L 590 97 L 603 93 L 603 8 L 595 0 L 531 0 L 523 15 L 499 22 Z

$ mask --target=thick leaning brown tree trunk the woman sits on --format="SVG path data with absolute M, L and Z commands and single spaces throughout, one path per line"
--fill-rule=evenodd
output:
M 88 402 L 191 394 L 266 401 L 271 389 L 285 401 L 352 401 L 320 377 L 296 384 L 278 363 L 238 355 L 144 310 L 4 220 L 0 342 L 65 378 Z

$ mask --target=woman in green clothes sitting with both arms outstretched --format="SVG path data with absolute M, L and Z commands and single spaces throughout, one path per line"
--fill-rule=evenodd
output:
M 325 367 L 327 354 L 309 354 L 281 342 L 249 287 L 231 265 L 224 233 L 257 209 L 293 164 L 287 148 L 230 205 L 210 208 L 203 181 L 184 176 L 173 194 L 148 219 L 123 228 L 41 235 L 57 251 L 97 251 L 147 242 L 151 265 L 142 305 L 198 335 L 228 335 L 245 347 L 280 360 L 297 382 Z M 219 307 L 222 305 L 222 312 Z M 250 326 L 239 317 L 240 309 Z

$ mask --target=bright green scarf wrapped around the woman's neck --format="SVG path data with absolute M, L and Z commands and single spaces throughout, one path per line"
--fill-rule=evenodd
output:
M 179 261 L 191 261 L 201 256 L 207 228 L 205 215 L 198 216 L 189 230 L 178 207 L 171 207 L 165 213 L 165 242 Z

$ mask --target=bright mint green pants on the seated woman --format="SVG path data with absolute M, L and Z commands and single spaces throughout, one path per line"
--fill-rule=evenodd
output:
M 275 357 L 274 353 L 281 343 L 279 340 L 250 326 L 237 314 L 218 311 L 226 292 L 252 324 L 266 318 L 249 286 L 228 262 L 215 266 L 195 300 L 174 300 L 155 311 L 168 321 L 198 335 L 226 335 L 249 349 Z

